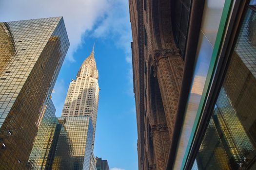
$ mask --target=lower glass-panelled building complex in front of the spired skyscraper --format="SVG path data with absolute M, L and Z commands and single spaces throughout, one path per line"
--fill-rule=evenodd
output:
M 89 170 L 93 125 L 89 116 L 56 118 L 50 101 L 39 127 L 28 167 L 31 170 Z

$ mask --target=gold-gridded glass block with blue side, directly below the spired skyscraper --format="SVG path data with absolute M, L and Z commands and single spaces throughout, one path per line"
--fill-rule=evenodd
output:
M 60 117 L 61 125 L 52 170 L 89 170 L 93 125 L 89 116 Z

